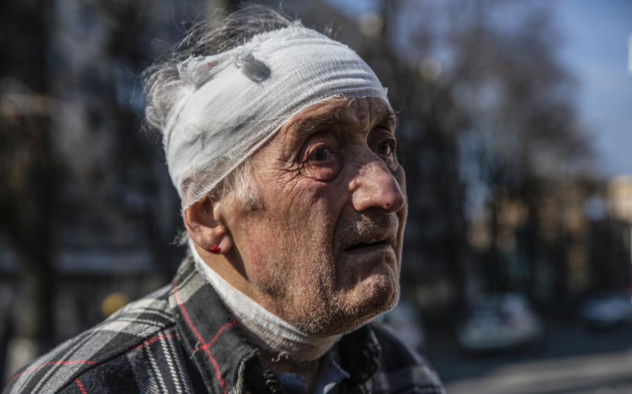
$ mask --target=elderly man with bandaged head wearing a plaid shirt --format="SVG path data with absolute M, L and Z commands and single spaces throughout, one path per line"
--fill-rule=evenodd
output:
M 404 170 L 386 89 L 267 8 L 199 24 L 147 72 L 189 253 L 172 284 L 11 393 L 443 393 L 378 325 L 399 298 Z

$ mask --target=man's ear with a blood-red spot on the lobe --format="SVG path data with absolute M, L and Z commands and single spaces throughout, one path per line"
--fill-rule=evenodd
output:
M 219 201 L 203 198 L 185 209 L 183 221 L 189 237 L 204 250 L 223 254 L 233 247 Z

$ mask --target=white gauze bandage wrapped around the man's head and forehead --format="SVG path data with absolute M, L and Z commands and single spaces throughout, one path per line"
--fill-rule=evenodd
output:
M 326 99 L 379 97 L 386 89 L 348 46 L 295 25 L 178 65 L 190 89 L 163 136 L 183 210 L 206 196 L 294 114 Z

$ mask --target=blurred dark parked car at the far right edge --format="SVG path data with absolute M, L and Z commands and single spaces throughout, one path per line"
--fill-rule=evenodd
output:
M 602 293 L 586 300 L 580 315 L 590 328 L 610 329 L 632 322 L 632 300 L 628 291 Z

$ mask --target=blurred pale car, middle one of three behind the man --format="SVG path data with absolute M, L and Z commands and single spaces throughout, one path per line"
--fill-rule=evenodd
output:
M 470 352 L 508 350 L 542 341 L 544 324 L 522 295 L 487 295 L 472 303 L 457 336 Z

